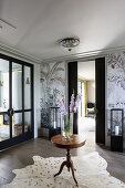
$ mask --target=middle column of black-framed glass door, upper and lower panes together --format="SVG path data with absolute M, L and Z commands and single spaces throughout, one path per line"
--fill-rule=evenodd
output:
M 12 137 L 22 134 L 22 65 L 12 62 Z

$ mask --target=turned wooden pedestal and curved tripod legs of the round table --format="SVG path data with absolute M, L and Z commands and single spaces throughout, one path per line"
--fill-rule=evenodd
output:
M 75 176 L 74 176 L 74 170 L 75 170 L 75 169 L 74 169 L 74 166 L 73 166 L 73 161 L 71 160 L 70 149 L 66 149 L 66 160 L 62 163 L 59 173 L 55 174 L 54 177 L 55 177 L 55 176 L 59 176 L 59 175 L 62 173 L 64 166 L 67 167 L 67 170 L 69 170 L 69 171 L 70 171 L 70 168 L 71 168 L 73 179 L 74 179 L 76 186 L 79 187 L 77 180 L 76 180 L 76 178 L 75 178 Z

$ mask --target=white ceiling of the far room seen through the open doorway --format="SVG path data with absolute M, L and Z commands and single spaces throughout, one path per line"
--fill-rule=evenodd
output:
M 95 61 L 79 62 L 77 77 L 85 81 L 95 80 Z

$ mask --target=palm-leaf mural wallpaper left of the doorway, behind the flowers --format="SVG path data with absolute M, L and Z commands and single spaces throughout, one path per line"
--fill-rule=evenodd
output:
M 65 63 L 41 64 L 41 126 L 49 126 L 49 107 L 58 106 L 55 95 L 65 95 Z

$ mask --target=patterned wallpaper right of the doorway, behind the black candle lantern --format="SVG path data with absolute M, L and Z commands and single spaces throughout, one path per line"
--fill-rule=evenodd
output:
M 107 55 L 107 126 L 111 129 L 111 108 L 124 109 L 125 125 L 125 53 Z M 124 126 L 125 133 L 125 126 Z M 125 136 L 125 134 L 124 134 Z

